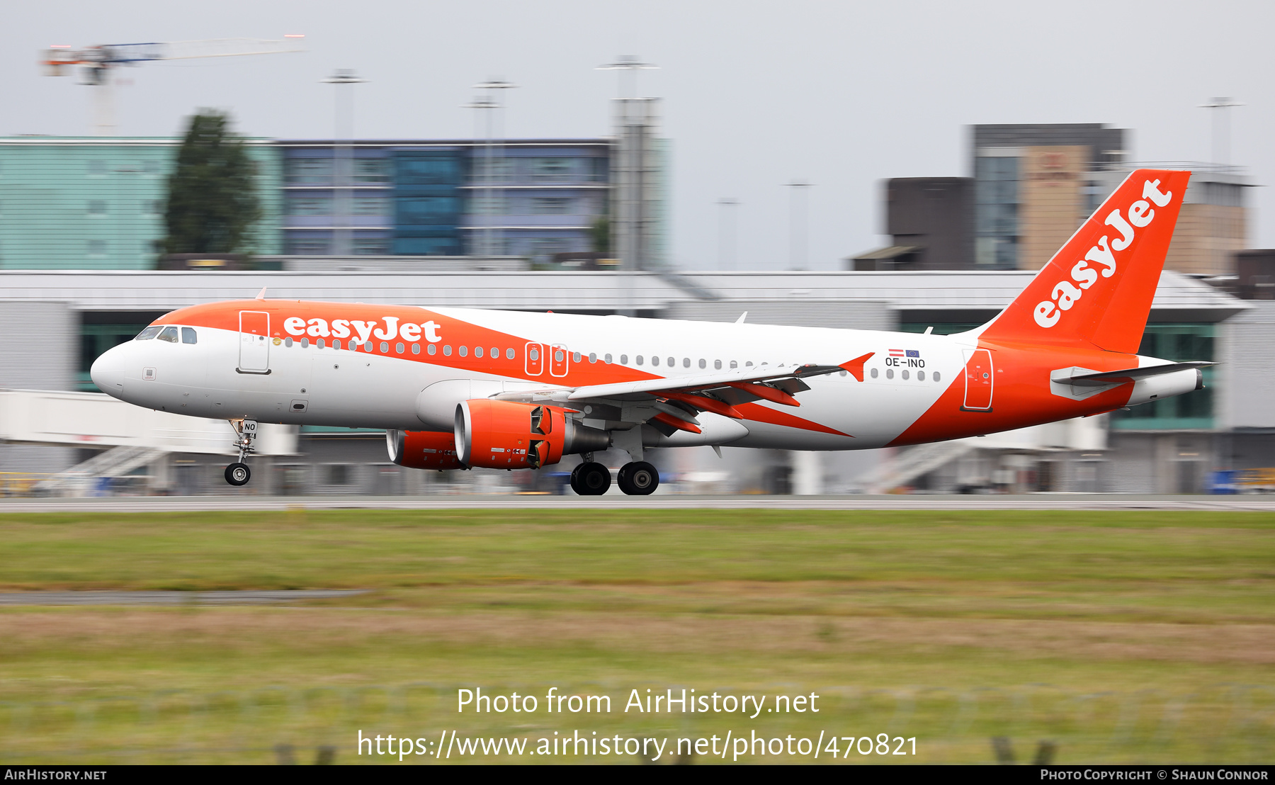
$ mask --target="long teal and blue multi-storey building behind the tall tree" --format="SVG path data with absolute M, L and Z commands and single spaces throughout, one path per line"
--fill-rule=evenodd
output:
M 643 127 L 641 130 L 649 131 Z M 246 248 L 282 257 L 518 257 L 553 269 L 667 247 L 667 143 L 246 139 L 261 218 Z M 0 269 L 150 270 L 181 139 L 0 139 Z M 640 158 L 634 178 L 626 162 Z M 626 196 L 636 192 L 636 199 Z M 634 220 L 612 220 L 639 204 Z M 617 218 L 622 218 L 617 217 Z M 419 269 L 435 266 L 421 259 Z

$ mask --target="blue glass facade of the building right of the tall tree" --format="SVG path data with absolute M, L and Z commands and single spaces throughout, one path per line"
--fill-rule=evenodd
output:
M 337 217 L 332 147 L 283 149 L 287 252 L 329 255 L 337 224 L 353 252 L 511 255 L 548 263 L 592 251 L 607 214 L 609 143 L 399 143 L 353 147 L 349 215 Z

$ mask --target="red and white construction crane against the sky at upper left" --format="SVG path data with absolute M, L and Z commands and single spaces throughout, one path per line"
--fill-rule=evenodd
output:
M 64 76 L 71 66 L 80 66 L 80 84 L 93 87 L 94 125 L 98 135 L 108 136 L 115 130 L 115 96 L 111 89 L 112 74 L 121 66 L 138 65 L 153 60 L 193 60 L 196 57 L 237 57 L 242 55 L 280 55 L 302 52 L 301 38 L 284 36 L 280 41 L 265 38 L 210 38 L 208 41 L 170 41 L 150 43 L 105 43 L 80 50 L 70 46 L 50 46 L 41 57 L 45 74 Z

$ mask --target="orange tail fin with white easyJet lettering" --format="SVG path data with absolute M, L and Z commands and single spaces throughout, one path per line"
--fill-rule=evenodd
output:
M 1137 352 L 1190 178 L 1130 175 L 980 336 Z

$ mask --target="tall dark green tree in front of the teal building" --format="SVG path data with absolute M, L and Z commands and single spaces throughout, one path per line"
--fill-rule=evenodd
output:
M 252 245 L 261 217 L 255 166 L 229 125 L 229 116 L 214 110 L 190 119 L 168 176 L 167 254 L 231 254 Z

